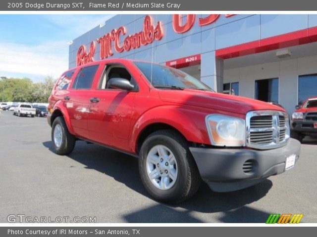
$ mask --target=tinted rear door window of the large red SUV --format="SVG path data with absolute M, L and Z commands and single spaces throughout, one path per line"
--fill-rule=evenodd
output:
M 76 76 L 73 89 L 90 89 L 99 65 L 83 68 Z

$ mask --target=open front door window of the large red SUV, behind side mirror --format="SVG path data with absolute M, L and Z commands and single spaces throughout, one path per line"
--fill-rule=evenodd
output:
M 132 84 L 135 83 L 131 74 L 128 70 L 121 65 L 108 65 L 106 66 L 106 70 L 101 79 L 101 83 L 99 85 L 100 89 L 108 89 L 108 82 L 113 78 L 123 78 L 131 81 Z

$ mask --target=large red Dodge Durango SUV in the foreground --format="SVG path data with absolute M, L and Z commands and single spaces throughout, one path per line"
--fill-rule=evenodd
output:
M 136 156 L 146 190 L 164 202 L 193 196 L 201 180 L 213 191 L 240 190 L 299 158 L 283 108 L 215 93 L 159 64 L 79 66 L 62 74 L 49 102 L 56 154 L 71 153 L 79 139 Z

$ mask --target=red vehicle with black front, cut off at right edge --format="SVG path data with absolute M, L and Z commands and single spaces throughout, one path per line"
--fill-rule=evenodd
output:
M 302 106 L 297 105 L 292 115 L 292 137 L 300 142 L 306 135 L 317 135 L 317 96 L 308 98 Z

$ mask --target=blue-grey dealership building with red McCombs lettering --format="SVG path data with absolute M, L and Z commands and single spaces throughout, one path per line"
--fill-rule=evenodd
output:
M 69 46 L 69 68 L 106 58 L 175 67 L 292 113 L 317 95 L 317 15 L 115 15 Z

